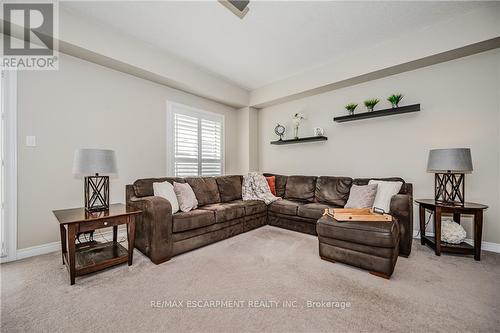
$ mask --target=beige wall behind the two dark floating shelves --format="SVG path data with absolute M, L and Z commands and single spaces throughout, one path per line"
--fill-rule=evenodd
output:
M 415 198 L 433 196 L 434 175 L 426 172 L 429 149 L 470 147 L 474 172 L 466 176 L 466 200 L 487 204 L 483 240 L 500 243 L 500 50 L 433 65 L 259 111 L 259 169 L 265 172 L 351 177 L 401 176 L 414 184 Z M 379 97 L 390 107 L 392 93 L 401 105 L 420 103 L 417 113 L 335 123 L 344 105 Z M 291 118 L 306 119 L 300 136 L 322 127 L 328 141 L 275 146 L 277 123 L 293 136 Z M 415 206 L 416 207 L 416 206 Z M 415 229 L 418 215 L 415 212 Z M 468 238 L 470 221 L 465 223 Z

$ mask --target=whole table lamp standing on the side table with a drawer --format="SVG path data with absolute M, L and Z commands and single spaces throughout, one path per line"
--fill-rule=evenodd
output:
M 109 209 L 109 175 L 116 174 L 116 156 L 108 149 L 78 149 L 73 174 L 83 175 L 85 209 L 96 212 Z

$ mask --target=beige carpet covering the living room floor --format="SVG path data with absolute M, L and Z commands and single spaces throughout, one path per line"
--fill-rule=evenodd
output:
M 3 264 L 2 332 L 500 330 L 498 254 L 476 262 L 416 244 L 385 280 L 323 261 L 317 246 L 316 237 L 266 226 L 159 266 L 136 251 L 132 267 L 74 286 L 59 253 Z M 202 303 L 210 300 L 233 303 Z

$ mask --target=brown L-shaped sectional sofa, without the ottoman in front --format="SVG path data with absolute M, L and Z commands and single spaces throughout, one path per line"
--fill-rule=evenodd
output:
M 262 201 L 242 200 L 242 176 L 148 178 L 127 185 L 127 204 L 143 211 L 136 220 L 135 247 L 159 264 L 177 254 L 266 224 L 316 235 L 316 223 L 324 209 L 343 207 L 352 184 L 369 181 L 369 178 L 274 176 L 276 195 L 283 199 L 269 206 Z M 399 194 L 392 198 L 391 214 L 399 224 L 399 254 L 408 256 L 413 230 L 412 185 L 401 178 L 384 180 L 403 182 Z M 164 181 L 189 183 L 198 199 L 198 209 L 172 215 L 170 202 L 153 196 L 153 183 Z

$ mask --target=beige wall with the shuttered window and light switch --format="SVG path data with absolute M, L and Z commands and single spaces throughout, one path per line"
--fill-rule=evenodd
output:
M 60 56 L 58 71 L 18 74 L 18 249 L 59 241 L 51 211 L 82 206 L 75 149 L 116 151 L 111 202 L 124 202 L 125 184 L 135 179 L 165 176 L 167 100 L 224 114 L 225 169 L 239 172 L 233 108 Z M 27 135 L 36 136 L 36 147 L 25 146 Z

